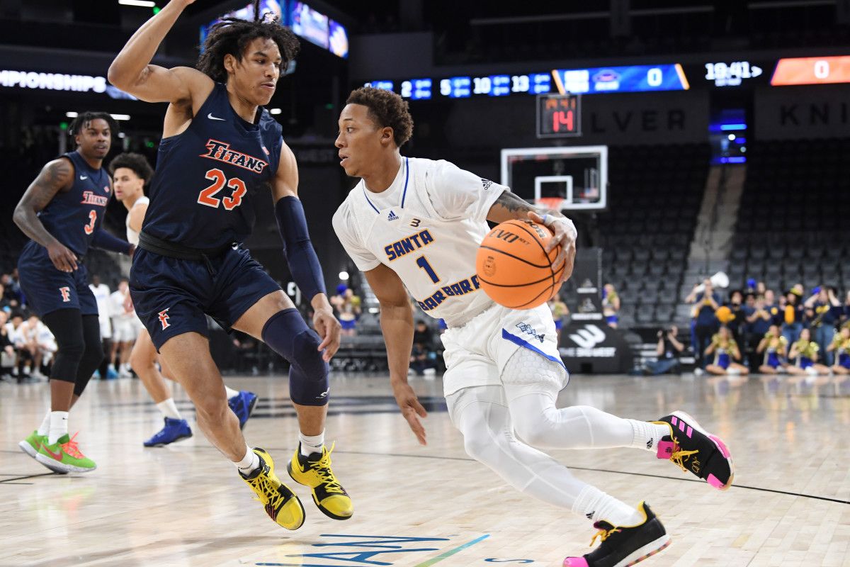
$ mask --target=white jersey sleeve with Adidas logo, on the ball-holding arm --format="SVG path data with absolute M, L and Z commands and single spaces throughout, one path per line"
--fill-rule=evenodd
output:
M 484 222 L 496 199 L 510 190 L 445 160 L 436 162 L 428 177 L 428 198 L 444 220 L 471 218 Z

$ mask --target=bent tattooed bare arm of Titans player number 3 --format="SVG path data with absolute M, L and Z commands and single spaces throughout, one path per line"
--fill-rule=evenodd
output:
M 24 196 L 20 198 L 17 207 L 14 207 L 14 224 L 33 241 L 47 248 L 48 255 L 53 261 L 56 269 L 63 272 L 71 272 L 77 269 L 77 255 L 71 252 L 65 245 L 54 238 L 42 221 L 38 213 L 60 190 L 70 189 L 74 182 L 74 165 L 71 160 L 60 157 L 42 167 L 41 173 L 26 189 Z

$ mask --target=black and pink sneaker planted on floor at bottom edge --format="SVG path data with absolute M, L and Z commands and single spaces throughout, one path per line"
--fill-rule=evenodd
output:
M 593 524 L 599 531 L 590 544 L 597 537 L 602 538 L 602 543 L 587 555 L 565 558 L 564 567 L 628 567 L 669 546 L 670 536 L 649 506 L 641 502 L 638 511 L 643 513 L 640 524 L 621 526 L 604 520 Z

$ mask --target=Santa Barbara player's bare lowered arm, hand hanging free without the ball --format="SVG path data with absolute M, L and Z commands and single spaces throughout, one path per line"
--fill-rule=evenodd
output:
M 410 299 L 407 298 L 399 275 L 387 266 L 378 264 L 377 268 L 364 272 L 364 275 L 381 303 L 381 330 L 383 340 L 387 343 L 389 382 L 393 386 L 395 401 L 416 439 L 426 445 L 425 428 L 419 417 L 428 417 L 428 412 L 407 383 L 407 369 L 410 368 L 413 350 L 413 309 Z

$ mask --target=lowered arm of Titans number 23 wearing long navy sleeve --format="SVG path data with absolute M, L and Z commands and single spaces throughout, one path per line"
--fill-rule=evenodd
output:
M 280 162 L 272 182 L 272 197 L 275 200 L 275 218 L 283 239 L 286 263 L 298 288 L 310 298 L 314 313 L 313 326 L 322 337 L 319 350 L 325 351 L 323 358 L 326 361 L 331 360 L 331 356 L 339 349 L 341 327 L 327 299 L 325 276 L 313 249 L 313 242 L 310 241 L 304 207 L 298 199 L 295 155 L 286 144 L 280 147 Z

